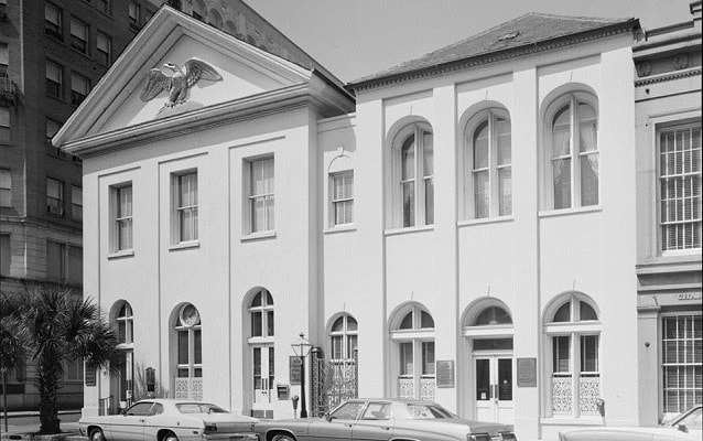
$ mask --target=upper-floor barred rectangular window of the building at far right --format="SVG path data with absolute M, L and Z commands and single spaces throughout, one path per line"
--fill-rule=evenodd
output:
M 662 251 L 701 248 L 701 123 L 659 131 Z

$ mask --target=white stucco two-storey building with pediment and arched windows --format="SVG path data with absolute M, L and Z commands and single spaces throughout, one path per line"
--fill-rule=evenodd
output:
M 528 14 L 345 88 L 162 8 L 54 138 L 129 366 L 84 413 L 152 367 L 158 394 L 290 417 L 303 332 L 312 412 L 349 374 L 520 439 L 603 423 L 598 398 L 637 424 L 638 31 Z M 140 100 L 191 58 L 221 80 Z

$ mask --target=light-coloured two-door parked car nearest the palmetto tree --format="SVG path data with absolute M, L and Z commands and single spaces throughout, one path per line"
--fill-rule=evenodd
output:
M 150 399 L 119 415 L 83 417 L 78 427 L 90 441 L 256 441 L 257 421 L 207 402 Z

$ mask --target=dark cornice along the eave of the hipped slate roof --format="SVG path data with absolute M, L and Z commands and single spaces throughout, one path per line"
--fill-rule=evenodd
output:
M 626 32 L 632 32 L 632 30 L 637 26 L 639 26 L 638 21 L 636 19 L 630 19 L 626 22 L 616 23 L 609 26 L 604 26 L 604 28 L 599 28 L 599 29 L 591 30 L 591 31 L 584 31 L 576 34 L 547 40 L 543 42 L 526 44 L 518 47 L 511 47 L 511 49 L 507 49 L 502 51 L 490 52 L 487 54 L 480 54 L 480 55 L 469 56 L 467 58 L 446 62 L 446 63 L 437 64 L 430 67 L 422 67 L 414 71 L 402 72 L 398 74 L 389 74 L 387 76 L 381 76 L 381 77 L 371 78 L 367 80 L 360 80 L 359 83 L 349 84 L 348 87 L 356 93 L 363 92 L 363 90 L 381 88 L 381 87 L 388 87 L 388 86 L 392 86 L 400 83 L 423 79 L 431 76 L 443 75 L 443 74 L 462 71 L 466 68 L 472 68 L 472 67 L 476 67 L 476 66 L 480 66 L 485 64 L 501 62 L 506 60 L 512 60 L 512 58 L 517 58 L 521 56 L 533 55 L 533 54 L 549 52 L 549 51 L 554 51 L 554 50 L 563 49 L 565 46 L 571 46 L 574 44 L 581 44 L 581 43 L 586 43 L 594 40 L 619 35 Z

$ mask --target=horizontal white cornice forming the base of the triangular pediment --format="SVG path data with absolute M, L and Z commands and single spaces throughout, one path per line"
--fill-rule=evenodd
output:
M 67 153 L 90 158 L 145 144 L 154 139 L 175 138 L 213 127 L 285 112 L 294 108 L 313 107 L 320 111 L 328 105 L 316 96 L 309 83 L 302 83 L 106 133 L 84 137 L 67 142 L 62 148 Z

